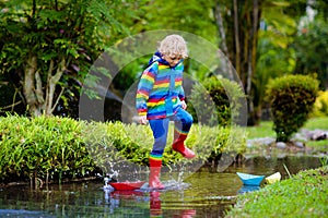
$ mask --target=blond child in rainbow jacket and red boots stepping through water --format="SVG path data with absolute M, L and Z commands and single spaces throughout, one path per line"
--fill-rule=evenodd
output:
M 185 39 L 179 35 L 166 36 L 138 84 L 136 106 L 140 123 L 147 124 L 149 120 L 154 137 L 149 158 L 151 189 L 164 189 L 159 177 L 169 121 L 175 123 L 173 150 L 188 159 L 195 157 L 195 153 L 184 145 L 192 124 L 192 117 L 185 110 L 187 105 L 183 88 L 183 61 L 187 57 Z

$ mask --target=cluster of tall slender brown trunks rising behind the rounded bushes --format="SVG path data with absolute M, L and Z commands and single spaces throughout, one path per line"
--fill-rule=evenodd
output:
M 248 123 L 254 124 L 255 111 L 251 95 L 256 73 L 259 19 L 262 1 L 215 1 L 214 13 L 222 50 L 235 66 L 248 96 Z M 222 22 L 225 21 L 225 22 Z

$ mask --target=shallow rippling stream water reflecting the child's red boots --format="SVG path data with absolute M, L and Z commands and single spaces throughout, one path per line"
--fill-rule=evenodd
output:
M 270 175 L 317 168 L 315 157 L 255 157 L 230 166 L 223 172 L 202 167 L 184 182 L 163 174 L 167 187 L 151 192 L 145 186 L 130 192 L 103 189 L 102 181 L 49 185 L 38 191 L 28 186 L 0 190 L 0 217 L 223 217 L 238 194 L 260 186 L 244 186 L 236 172 Z M 263 186 L 265 184 L 261 184 Z

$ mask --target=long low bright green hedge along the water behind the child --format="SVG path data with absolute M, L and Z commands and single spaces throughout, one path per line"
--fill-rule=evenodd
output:
M 167 144 L 173 141 L 169 126 Z M 187 146 L 202 160 L 246 147 L 244 130 L 194 125 Z M 85 122 L 60 117 L 0 117 L 0 183 L 57 182 L 110 172 L 129 161 L 147 166 L 153 138 L 148 125 Z M 187 161 L 166 146 L 163 165 Z

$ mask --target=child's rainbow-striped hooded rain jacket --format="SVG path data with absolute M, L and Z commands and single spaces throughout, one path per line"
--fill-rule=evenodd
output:
M 137 88 L 136 107 L 139 116 L 148 120 L 162 119 L 176 113 L 185 99 L 183 88 L 184 60 L 171 68 L 156 52 L 143 71 Z

